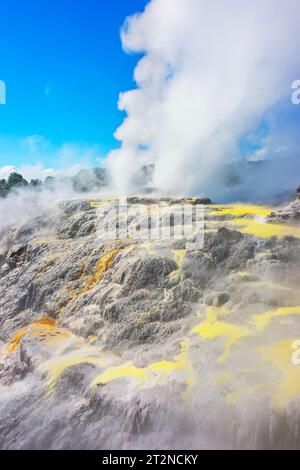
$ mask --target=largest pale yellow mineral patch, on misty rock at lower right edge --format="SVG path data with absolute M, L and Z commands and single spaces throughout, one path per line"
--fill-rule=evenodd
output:
M 227 314 L 224 308 L 209 307 L 206 319 L 192 330 L 192 333 L 208 341 L 224 336 L 225 349 L 218 359 L 219 363 L 224 363 L 229 357 L 231 347 L 246 336 L 251 335 L 253 338 L 260 338 L 261 343 L 267 343 L 267 336 L 260 337 L 260 334 L 271 320 L 300 315 L 300 307 L 281 307 L 255 315 L 244 325 L 233 325 L 219 320 Z M 241 364 L 234 370 L 220 371 L 215 384 L 226 385 L 231 389 L 224 396 L 225 402 L 233 406 L 240 400 L 263 394 L 268 398 L 272 409 L 282 412 L 293 399 L 300 396 L 300 369 L 292 362 L 294 341 L 295 338 L 281 339 L 266 346 L 253 348 L 252 368 L 244 369 Z

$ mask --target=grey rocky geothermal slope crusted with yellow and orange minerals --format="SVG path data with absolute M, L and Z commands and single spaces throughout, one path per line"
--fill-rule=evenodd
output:
M 108 200 L 3 228 L 1 448 L 299 448 L 297 217 L 184 202 L 201 249 L 102 239 Z

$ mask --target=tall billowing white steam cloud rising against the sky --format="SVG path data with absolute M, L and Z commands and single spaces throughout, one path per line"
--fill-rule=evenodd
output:
M 152 0 L 126 20 L 125 50 L 142 53 L 137 88 L 108 166 L 127 191 L 143 164 L 154 186 L 201 191 L 242 136 L 291 95 L 300 66 L 299 0 Z M 292 106 L 292 104 L 291 104 Z

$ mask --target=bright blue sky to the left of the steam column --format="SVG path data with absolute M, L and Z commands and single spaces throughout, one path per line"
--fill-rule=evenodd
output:
M 118 146 L 118 95 L 134 87 L 138 60 L 122 50 L 120 27 L 146 3 L 1 2 L 0 166 L 72 164 L 78 152 L 95 163 Z

